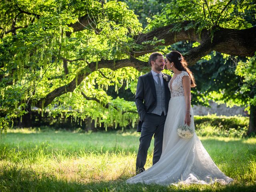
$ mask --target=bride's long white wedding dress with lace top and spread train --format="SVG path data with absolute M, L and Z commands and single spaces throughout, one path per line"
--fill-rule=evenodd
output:
M 164 125 L 163 149 L 160 160 L 148 170 L 128 179 L 130 184 L 212 184 L 220 182 L 228 184 L 232 178 L 224 175 L 214 164 L 196 133 L 184 139 L 178 136 L 177 128 L 184 125 L 185 99 L 182 77 L 188 73 L 182 71 L 168 87 L 171 91 L 168 114 Z M 195 130 L 192 108 L 190 127 Z

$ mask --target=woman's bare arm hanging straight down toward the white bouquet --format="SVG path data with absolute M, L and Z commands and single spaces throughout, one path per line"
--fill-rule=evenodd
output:
M 182 84 L 184 88 L 184 97 L 185 97 L 185 103 L 186 103 L 186 115 L 185 115 L 185 124 L 190 126 L 191 118 L 190 118 L 190 77 L 189 76 L 183 76 L 182 77 Z

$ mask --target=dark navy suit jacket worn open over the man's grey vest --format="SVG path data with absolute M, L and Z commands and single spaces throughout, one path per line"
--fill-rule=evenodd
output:
M 171 97 L 170 90 L 168 88 L 168 82 L 170 81 L 171 76 L 167 74 L 164 75 L 168 76 L 168 81 L 163 79 L 165 93 L 165 108 L 167 112 L 169 100 Z M 137 127 L 137 132 L 140 132 L 146 113 L 151 113 L 154 110 L 154 108 L 156 108 L 156 87 L 151 71 L 138 78 L 135 104 L 140 116 L 140 122 Z

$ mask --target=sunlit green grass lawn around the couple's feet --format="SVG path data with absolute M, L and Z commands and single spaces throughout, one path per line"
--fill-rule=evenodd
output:
M 8 130 L 0 140 L 0 191 L 256 191 L 256 138 L 217 136 L 200 140 L 220 170 L 234 178 L 231 185 L 128 185 L 139 136 Z M 151 166 L 152 146 L 146 168 Z

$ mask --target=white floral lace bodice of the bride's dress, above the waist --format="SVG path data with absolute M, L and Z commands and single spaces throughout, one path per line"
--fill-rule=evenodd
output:
M 182 71 L 180 74 L 176 76 L 174 80 L 170 80 L 168 83 L 168 87 L 171 92 L 171 97 L 184 96 L 184 88 L 182 84 L 182 77 L 189 76 L 188 72 Z M 172 85 L 171 85 L 172 82 Z

